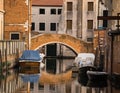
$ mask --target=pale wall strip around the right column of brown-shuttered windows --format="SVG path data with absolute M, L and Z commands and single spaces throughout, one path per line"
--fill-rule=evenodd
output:
M 88 11 L 88 2 L 94 3 L 94 10 Z M 93 38 L 93 31 L 97 28 L 98 0 L 83 1 L 82 8 L 82 39 L 87 41 L 87 38 Z M 87 20 L 93 20 L 93 30 L 88 31 Z

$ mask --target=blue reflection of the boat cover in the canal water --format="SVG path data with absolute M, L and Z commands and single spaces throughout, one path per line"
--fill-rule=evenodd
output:
M 21 75 L 21 78 L 23 82 L 31 82 L 35 83 L 39 81 L 40 75 L 39 74 L 26 74 L 26 75 Z

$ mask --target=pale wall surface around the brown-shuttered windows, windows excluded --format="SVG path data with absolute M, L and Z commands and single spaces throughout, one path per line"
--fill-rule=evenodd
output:
M 72 2 L 72 31 L 67 31 L 67 2 Z M 88 2 L 94 3 L 94 10 L 88 11 Z M 80 7 L 82 6 L 82 7 Z M 87 41 L 87 38 L 93 38 L 93 31 L 97 29 L 98 0 L 64 0 L 62 20 L 60 23 L 59 33 L 69 34 Z M 93 29 L 88 31 L 87 20 L 93 20 Z M 63 25 L 64 24 L 64 25 Z M 63 25 L 63 26 L 61 26 Z M 64 29 L 62 32 L 61 29 Z M 69 32 L 69 33 L 68 33 Z

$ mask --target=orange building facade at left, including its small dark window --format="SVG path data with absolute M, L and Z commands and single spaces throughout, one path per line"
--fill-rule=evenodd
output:
M 31 0 L 4 0 L 5 40 L 24 40 L 30 45 Z

